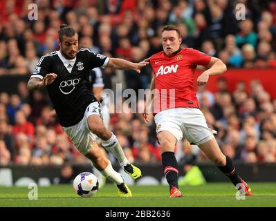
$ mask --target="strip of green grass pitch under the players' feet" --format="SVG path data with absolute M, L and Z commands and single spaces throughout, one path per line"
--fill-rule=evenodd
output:
M 235 198 L 230 183 L 181 186 L 183 198 L 169 198 L 167 186 L 129 186 L 132 198 L 119 198 L 116 186 L 106 184 L 93 198 L 80 198 L 71 185 L 38 187 L 38 200 L 28 200 L 28 187 L 0 187 L 0 206 L 74 207 L 252 207 L 276 206 L 276 183 L 250 183 L 254 196 Z

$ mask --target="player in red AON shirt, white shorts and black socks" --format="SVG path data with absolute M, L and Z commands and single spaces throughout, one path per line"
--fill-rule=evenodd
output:
M 199 108 L 193 85 L 197 65 L 208 68 L 197 79 L 198 86 L 205 85 L 209 76 L 224 73 L 226 65 L 220 59 L 205 55 L 199 50 L 181 48 L 180 32 L 175 26 L 163 28 L 162 43 L 163 51 L 152 55 L 148 60 L 154 71 L 154 78 L 151 80 L 151 90 L 154 90 L 154 121 L 170 197 L 182 197 L 178 189 L 178 163 L 174 151 L 176 142 L 182 140 L 183 135 L 191 144 L 199 146 L 230 178 L 234 186 L 240 184 L 240 191 L 245 191 L 245 195 L 252 195 L 252 190 L 239 177 L 230 157 L 221 153 Z M 146 121 L 151 102 L 149 97 L 144 113 Z

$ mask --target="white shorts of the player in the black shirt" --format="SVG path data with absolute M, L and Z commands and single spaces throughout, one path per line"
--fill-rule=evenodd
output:
M 82 153 L 86 155 L 89 153 L 93 142 L 95 142 L 96 135 L 93 134 L 88 126 L 87 119 L 90 115 L 99 115 L 102 117 L 101 106 L 99 102 L 93 102 L 87 106 L 82 120 L 73 126 L 64 127 L 63 131 L 70 137 L 75 147 Z

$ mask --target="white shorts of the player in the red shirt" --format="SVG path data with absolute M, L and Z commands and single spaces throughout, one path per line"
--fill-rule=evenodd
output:
M 203 144 L 214 138 L 206 119 L 199 108 L 172 108 L 160 111 L 154 117 L 156 133 L 169 131 L 181 141 L 183 135 L 188 142 Z

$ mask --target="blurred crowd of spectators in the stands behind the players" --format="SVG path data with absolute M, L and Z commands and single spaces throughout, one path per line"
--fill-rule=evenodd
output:
M 30 20 L 30 3 L 37 3 L 38 19 Z M 237 20 L 245 7 L 245 20 Z M 253 0 L 0 0 L 1 75 L 30 75 L 42 55 L 58 50 L 57 31 L 68 23 L 79 34 L 80 47 L 109 57 L 141 61 L 162 50 L 161 28 L 169 23 L 181 30 L 183 47 L 219 57 L 228 68 L 276 67 L 276 3 Z M 149 88 L 151 69 L 142 74 L 102 70 L 106 88 L 115 81 L 138 92 Z M 208 124 L 218 131 L 223 153 L 244 162 L 276 162 L 276 100 L 259 81 L 250 90 L 238 82 L 230 93 L 226 79 L 218 92 L 199 88 L 198 97 Z M 250 91 L 247 93 L 246 91 Z M 142 102 L 141 100 L 139 102 Z M 143 104 L 138 104 L 143 105 Z M 153 118 L 112 114 L 116 133 L 131 162 L 160 162 Z M 176 157 L 206 157 L 186 140 Z M 0 93 L 0 164 L 86 163 L 57 122 L 44 90 L 29 93 L 26 82 L 18 93 Z

